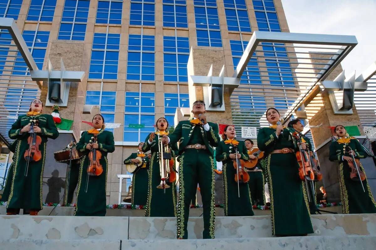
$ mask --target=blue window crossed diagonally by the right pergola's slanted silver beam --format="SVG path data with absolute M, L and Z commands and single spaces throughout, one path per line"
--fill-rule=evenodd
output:
M 243 55 L 244 49 L 247 46 L 247 42 L 243 43 L 237 40 L 230 40 L 232 62 L 234 69 L 238 66 L 241 56 Z M 255 56 L 256 54 L 253 54 Z M 251 57 L 246 69 L 243 72 L 240 80 L 241 84 L 261 84 L 261 76 L 259 72 L 259 67 L 257 63 L 257 57 Z

